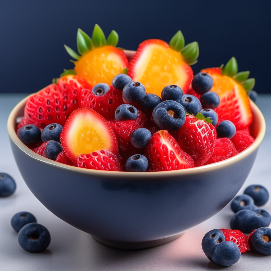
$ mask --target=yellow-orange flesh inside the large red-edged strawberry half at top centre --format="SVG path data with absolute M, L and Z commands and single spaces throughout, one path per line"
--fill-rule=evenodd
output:
M 187 74 L 180 52 L 159 44 L 147 46 L 134 67 L 133 81 L 141 82 L 147 93 L 161 97 L 165 86 L 185 85 Z

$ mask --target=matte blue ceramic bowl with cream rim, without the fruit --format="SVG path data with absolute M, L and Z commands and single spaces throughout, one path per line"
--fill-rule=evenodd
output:
M 249 175 L 265 133 L 264 117 L 251 101 L 255 141 L 229 159 L 163 172 L 83 169 L 49 160 L 20 141 L 16 118 L 27 98 L 12 110 L 7 128 L 28 188 L 57 217 L 121 249 L 167 243 L 224 208 Z

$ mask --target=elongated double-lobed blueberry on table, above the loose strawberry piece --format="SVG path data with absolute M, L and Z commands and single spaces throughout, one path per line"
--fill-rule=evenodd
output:
M 251 233 L 251 231 L 260 228 L 268 227 L 271 222 L 269 212 L 264 209 L 241 210 L 231 218 L 231 228 L 239 230 L 243 233 Z

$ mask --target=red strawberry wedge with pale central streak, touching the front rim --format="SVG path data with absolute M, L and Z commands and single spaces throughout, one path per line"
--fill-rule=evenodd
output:
M 191 156 L 180 148 L 167 130 L 153 134 L 144 153 L 149 161 L 150 171 L 187 169 L 194 166 Z

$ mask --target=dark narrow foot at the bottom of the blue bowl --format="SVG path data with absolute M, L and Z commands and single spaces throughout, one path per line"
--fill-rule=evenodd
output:
M 184 233 L 184 232 L 183 232 Z M 105 240 L 96 236 L 93 236 L 93 239 L 102 243 L 109 247 L 114 247 L 116 249 L 124 249 L 124 250 L 137 250 L 137 249 L 148 249 L 150 247 L 160 246 L 166 243 L 169 243 L 177 238 L 179 238 L 183 233 L 179 233 L 170 237 L 152 240 L 152 241 L 145 241 L 145 242 L 116 242 L 111 240 Z

